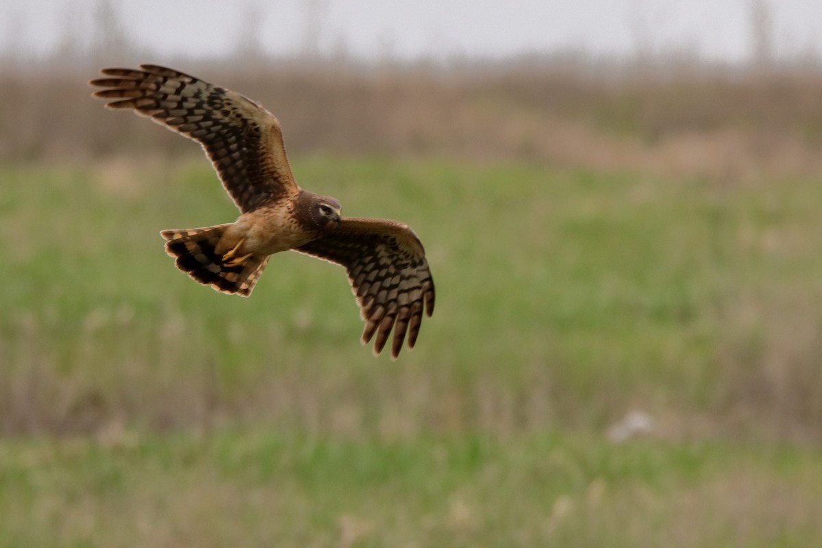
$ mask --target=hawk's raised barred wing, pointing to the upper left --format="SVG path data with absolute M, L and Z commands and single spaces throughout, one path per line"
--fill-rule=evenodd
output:
M 90 81 L 113 99 L 106 108 L 134 109 L 200 143 L 225 190 L 243 212 L 299 191 L 277 118 L 241 94 L 155 65 L 106 68 Z

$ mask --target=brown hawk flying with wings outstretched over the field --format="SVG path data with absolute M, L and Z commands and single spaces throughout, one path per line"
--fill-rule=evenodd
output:
M 397 221 L 343 217 L 339 201 L 302 190 L 285 156 L 277 118 L 260 104 L 194 76 L 155 65 L 106 68 L 90 81 L 106 108 L 134 110 L 196 140 L 240 210 L 233 223 L 164 230 L 177 267 L 217 291 L 248 297 L 270 256 L 293 250 L 348 272 L 365 320 L 363 344 L 391 357 L 413 348 L 434 311 L 434 281 L 423 244 Z M 407 337 L 406 337 L 407 335 Z

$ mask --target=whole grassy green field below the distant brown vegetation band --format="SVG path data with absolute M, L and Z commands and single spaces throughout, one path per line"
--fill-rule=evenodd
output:
M 159 230 L 203 162 L 2 168 L 0 546 L 810 546 L 822 184 L 295 159 L 409 223 L 436 313 L 372 357 L 344 271 L 249 299 Z M 657 431 L 610 444 L 631 409 Z

